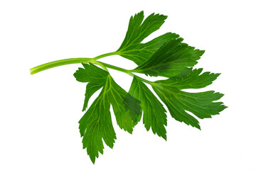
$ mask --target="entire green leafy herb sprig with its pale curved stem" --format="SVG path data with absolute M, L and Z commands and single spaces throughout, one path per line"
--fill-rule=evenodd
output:
M 226 108 L 222 102 L 215 102 L 223 94 L 215 93 L 215 91 L 201 93 L 183 91 L 183 89 L 206 87 L 220 75 L 210 72 L 202 73 L 203 69 L 192 68 L 204 51 L 195 50 L 194 47 L 183 43 L 183 39 L 175 33 L 166 33 L 142 43 L 142 40 L 161 27 L 166 18 L 167 16 L 152 13 L 144 19 L 142 11 L 130 18 L 127 34 L 116 52 L 94 58 L 58 60 L 31 69 L 31 74 L 35 74 L 65 64 L 82 63 L 83 68 L 78 68 L 74 74 L 77 81 L 87 83 L 82 108 L 82 111 L 87 111 L 79 121 L 79 129 L 83 148 L 87 149 L 87 154 L 93 163 L 95 163 L 95 158 L 99 157 L 99 152 L 103 154 L 103 140 L 107 146 L 112 148 L 114 140 L 117 139 L 112 125 L 110 105 L 113 108 L 117 125 L 121 129 L 132 133 L 134 126 L 142 118 L 146 130 L 151 128 L 154 134 L 166 140 L 166 109 L 146 84 L 154 89 L 174 119 L 198 129 L 201 127 L 196 117 L 211 118 L 211 115 L 219 114 Z M 119 55 L 132 60 L 138 67 L 127 70 L 97 61 L 110 55 Z M 128 93 L 112 79 L 107 68 L 133 77 Z M 148 81 L 135 75 L 135 72 L 167 79 Z M 92 94 L 100 89 L 99 96 L 87 108 Z

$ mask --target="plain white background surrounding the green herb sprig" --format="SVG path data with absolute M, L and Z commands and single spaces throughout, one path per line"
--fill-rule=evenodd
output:
M 34 75 L 29 69 L 117 50 L 129 17 L 142 10 L 169 16 L 147 40 L 171 31 L 206 50 L 196 67 L 222 74 L 203 90 L 225 94 L 228 108 L 200 120 L 202 130 L 168 113 L 167 142 L 142 122 L 129 135 L 112 116 L 114 148 L 105 147 L 93 165 L 78 130 L 86 84 L 73 73 L 80 64 Z M 255 16 L 246 0 L 1 0 L 0 169 L 256 169 Z M 117 56 L 102 61 L 135 67 Z M 132 77 L 110 71 L 128 90 Z

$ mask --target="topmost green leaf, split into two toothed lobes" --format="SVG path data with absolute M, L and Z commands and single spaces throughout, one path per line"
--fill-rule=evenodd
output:
M 144 21 L 144 12 L 131 16 L 127 34 L 117 54 L 140 65 L 151 57 L 165 42 L 178 38 L 175 33 L 166 33 L 146 43 L 142 43 L 147 36 L 158 30 L 167 16 L 152 13 Z

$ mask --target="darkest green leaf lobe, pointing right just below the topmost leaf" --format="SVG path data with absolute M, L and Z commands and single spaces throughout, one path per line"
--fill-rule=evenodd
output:
M 195 47 L 182 43 L 182 40 L 182 38 L 169 40 L 149 60 L 133 69 L 132 72 L 154 77 L 174 77 L 181 72 L 189 72 L 190 67 L 197 63 L 204 51 L 195 50 Z

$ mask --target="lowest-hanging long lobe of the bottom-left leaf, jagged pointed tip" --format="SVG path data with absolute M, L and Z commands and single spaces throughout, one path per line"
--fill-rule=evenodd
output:
M 102 139 L 110 148 L 113 148 L 114 140 L 117 139 L 110 115 L 110 103 L 107 101 L 105 91 L 106 89 L 103 88 L 79 121 L 83 149 L 87 148 L 87 154 L 93 164 L 95 157 L 99 157 L 99 152 L 103 154 Z

